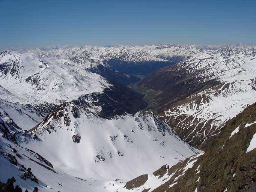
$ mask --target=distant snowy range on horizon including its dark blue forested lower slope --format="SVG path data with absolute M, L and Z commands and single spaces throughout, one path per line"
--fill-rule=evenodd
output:
M 148 75 L 157 69 L 225 48 L 226 45 L 145 45 L 145 46 L 54 46 L 23 50 L 69 60 L 102 60 L 121 73 Z M 238 44 L 234 49 L 255 48 L 255 45 Z

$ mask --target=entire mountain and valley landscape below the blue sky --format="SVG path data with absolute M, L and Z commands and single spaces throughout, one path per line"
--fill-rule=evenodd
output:
M 253 192 L 256 45 L 0 53 L 0 192 Z

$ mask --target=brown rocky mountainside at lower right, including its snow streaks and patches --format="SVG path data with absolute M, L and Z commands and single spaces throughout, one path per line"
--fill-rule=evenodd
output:
M 256 190 L 256 103 L 227 121 L 221 133 L 205 142 L 205 153 L 176 165 L 162 166 L 116 191 L 223 192 Z

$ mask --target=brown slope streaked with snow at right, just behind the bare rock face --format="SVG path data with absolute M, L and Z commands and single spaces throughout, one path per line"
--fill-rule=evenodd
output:
M 185 98 L 184 104 L 164 111 L 166 123 L 177 120 L 187 142 L 199 144 L 256 101 L 256 78 L 230 81 Z

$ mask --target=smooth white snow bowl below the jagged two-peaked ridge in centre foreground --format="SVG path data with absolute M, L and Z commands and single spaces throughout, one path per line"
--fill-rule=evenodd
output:
M 83 178 L 133 178 L 198 152 L 152 112 L 105 119 L 86 108 L 63 103 L 32 132 L 40 141 L 18 135 L 23 147 L 38 152 L 54 167 Z

